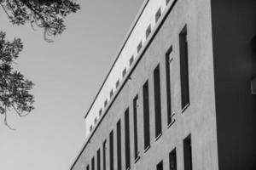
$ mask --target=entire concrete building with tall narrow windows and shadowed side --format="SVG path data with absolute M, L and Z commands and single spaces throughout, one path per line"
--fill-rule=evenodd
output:
M 254 0 L 146 0 L 71 169 L 255 170 L 255 35 Z

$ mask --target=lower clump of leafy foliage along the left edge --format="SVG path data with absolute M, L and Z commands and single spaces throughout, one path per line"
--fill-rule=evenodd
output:
M 5 33 L 0 31 L 0 114 L 5 116 L 4 122 L 8 127 L 7 111 L 26 116 L 33 109 L 33 96 L 29 94 L 33 84 L 13 68 L 22 48 L 20 39 L 8 42 Z

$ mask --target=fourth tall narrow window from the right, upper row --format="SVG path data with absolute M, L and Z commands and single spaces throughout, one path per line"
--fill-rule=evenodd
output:
M 148 81 L 143 85 L 144 150 L 150 146 Z

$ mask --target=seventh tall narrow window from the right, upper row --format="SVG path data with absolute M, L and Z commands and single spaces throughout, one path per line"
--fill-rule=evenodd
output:
M 116 124 L 116 137 L 117 137 L 117 162 L 118 162 L 118 170 L 122 169 L 122 146 L 121 146 L 121 121 Z

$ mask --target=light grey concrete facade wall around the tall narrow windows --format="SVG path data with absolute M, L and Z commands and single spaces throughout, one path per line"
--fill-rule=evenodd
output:
M 170 8 L 170 6 L 169 6 Z M 170 10 L 169 10 L 170 12 Z M 192 161 L 195 170 L 217 170 L 217 127 L 212 64 L 212 20 L 210 0 L 178 0 L 170 13 L 159 24 L 155 34 L 143 48 L 135 69 L 129 73 L 122 90 L 114 99 L 95 133 L 90 136 L 84 150 L 74 163 L 73 170 L 84 170 L 102 149 L 107 139 L 107 170 L 109 170 L 109 133 L 113 130 L 114 169 L 117 168 L 116 123 L 121 119 L 122 164 L 125 169 L 125 121 L 124 114 L 130 109 L 131 170 L 155 169 L 163 160 L 164 169 L 169 169 L 169 152 L 177 150 L 177 169 L 183 169 L 183 139 L 191 133 Z M 178 34 L 187 25 L 189 42 L 189 91 L 190 105 L 181 111 L 179 42 Z M 175 122 L 167 126 L 166 68 L 165 57 L 172 46 L 172 111 Z M 154 128 L 154 82 L 153 71 L 160 63 L 162 135 L 155 139 Z M 150 110 L 150 148 L 144 152 L 143 142 L 143 83 L 148 80 Z M 134 161 L 132 100 L 138 94 L 138 150 L 140 159 Z M 102 159 L 101 159 L 102 160 Z

